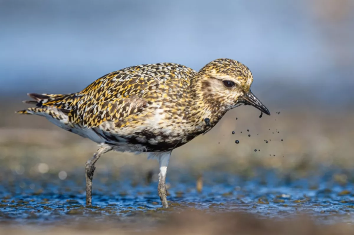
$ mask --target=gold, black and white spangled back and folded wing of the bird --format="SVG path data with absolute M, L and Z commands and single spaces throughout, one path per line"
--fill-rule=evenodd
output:
M 123 119 L 139 115 L 148 105 L 168 93 L 176 93 L 175 98 L 178 99 L 195 73 L 193 69 L 174 63 L 127 67 L 102 76 L 81 92 L 46 95 L 45 99 L 38 97 L 38 107 L 33 109 L 54 110 L 60 116 L 67 116 L 65 124 L 69 125 L 93 128 L 102 122 L 113 121 L 116 126 L 121 126 L 124 125 Z M 178 92 L 175 92 L 176 88 Z

